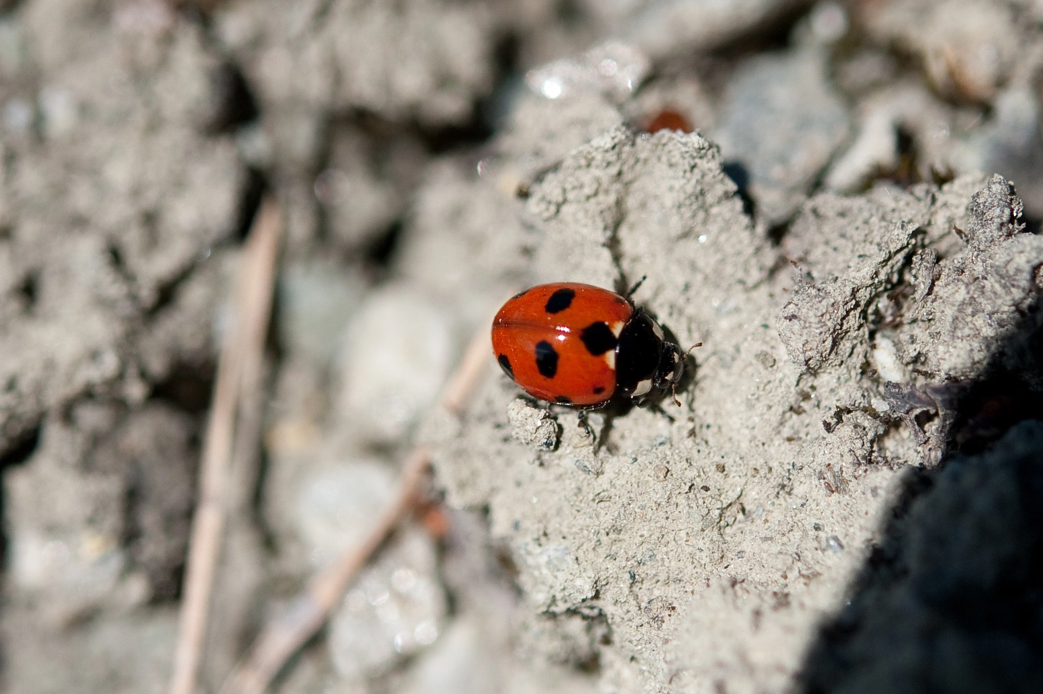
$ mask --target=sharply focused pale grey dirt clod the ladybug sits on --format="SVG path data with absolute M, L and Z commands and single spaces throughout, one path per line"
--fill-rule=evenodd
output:
M 884 379 L 864 364 L 890 355 L 892 372 L 909 373 L 895 346 L 915 330 L 906 295 L 938 294 L 937 281 L 922 279 L 935 277 L 931 258 L 978 253 L 953 238 L 954 223 L 1014 233 L 988 253 L 1035 247 L 1010 226 L 1017 205 L 1002 180 L 968 208 L 986 183 L 812 198 L 786 240 L 795 278 L 772 271 L 772 247 L 743 213 L 717 147 L 698 135 L 618 127 L 534 186 L 537 279 L 614 287 L 648 276 L 635 301 L 680 341 L 706 346 L 684 407 L 666 407 L 672 420 L 632 409 L 597 450 L 565 436 L 530 464 L 532 451 L 502 432 L 526 437 L 508 415 L 516 388 L 506 379 L 487 385 L 459 430 L 435 434 L 451 503 L 487 505 L 493 535 L 511 547 L 528 609 L 542 615 L 530 636 L 564 652 L 592 649 L 603 686 L 621 691 L 790 681 L 814 625 L 877 539 L 903 464 L 937 459 L 903 433 L 908 421 L 889 412 Z M 797 303 L 801 291 L 832 291 L 849 306 L 776 333 L 794 280 L 807 287 Z M 1030 303 L 1035 294 L 1021 292 L 1015 303 Z M 811 350 L 817 370 L 786 353 L 816 333 L 831 345 Z M 610 645 L 578 628 L 595 620 Z

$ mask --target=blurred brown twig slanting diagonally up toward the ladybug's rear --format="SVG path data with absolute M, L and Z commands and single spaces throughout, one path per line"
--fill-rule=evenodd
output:
M 489 333 L 483 328 L 467 345 L 445 386 L 442 406 L 446 410 L 454 414 L 460 412 L 485 372 L 489 354 Z M 411 508 L 430 461 L 426 446 L 413 450 L 404 465 L 394 501 L 381 514 L 365 542 L 342 554 L 333 566 L 313 577 L 287 613 L 261 632 L 249 655 L 222 688 L 222 694 L 262 694 L 287 660 L 322 627 L 351 578 Z

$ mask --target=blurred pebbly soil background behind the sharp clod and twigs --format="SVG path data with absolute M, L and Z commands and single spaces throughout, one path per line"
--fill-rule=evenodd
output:
M 998 172 L 1036 231 L 1041 67 L 1038 0 L 0 0 L 4 690 L 167 690 L 264 196 L 285 234 L 263 441 L 210 692 L 390 499 L 466 340 L 529 280 L 522 205 L 565 153 L 621 122 L 698 130 L 775 240 L 817 191 Z M 433 508 L 275 691 L 596 691 L 590 653 L 513 647 L 481 512 Z

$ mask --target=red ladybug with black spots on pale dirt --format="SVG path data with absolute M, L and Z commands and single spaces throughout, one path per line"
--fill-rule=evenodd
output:
M 530 396 L 584 409 L 613 397 L 657 399 L 676 389 L 684 368 L 680 348 L 652 316 L 615 292 L 575 282 L 539 285 L 504 304 L 492 321 L 492 351 Z

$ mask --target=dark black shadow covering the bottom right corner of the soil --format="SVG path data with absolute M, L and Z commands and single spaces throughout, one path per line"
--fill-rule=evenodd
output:
M 911 469 L 795 691 L 1043 692 L 1043 306 L 994 355 L 1023 368 L 939 385 L 937 470 Z

